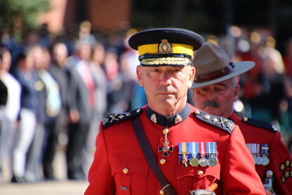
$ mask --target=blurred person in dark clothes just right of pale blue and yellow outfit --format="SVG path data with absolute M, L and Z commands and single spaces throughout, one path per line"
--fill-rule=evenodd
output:
M 57 150 L 58 136 L 60 133 L 66 133 L 68 130 L 68 113 L 69 113 L 69 83 L 68 74 L 65 67 L 67 62 L 68 52 L 64 43 L 55 43 L 53 45 L 52 63 L 49 66 L 48 72 L 57 81 L 60 90 L 61 97 L 61 109 L 57 115 L 54 129 L 49 133 L 47 142 L 47 152 L 43 156 L 43 174 L 45 179 L 55 179 L 52 162 L 54 160 L 54 154 Z M 46 155 L 46 153 L 48 153 Z

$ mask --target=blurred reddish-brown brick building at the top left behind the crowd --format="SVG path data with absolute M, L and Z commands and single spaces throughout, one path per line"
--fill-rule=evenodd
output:
M 89 20 L 93 29 L 112 30 L 129 22 L 131 0 L 49 0 L 51 9 L 38 18 L 51 32 Z

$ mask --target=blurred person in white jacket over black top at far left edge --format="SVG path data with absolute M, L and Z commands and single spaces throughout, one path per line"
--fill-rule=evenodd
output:
M 5 157 L 9 157 L 9 161 L 12 161 L 11 147 L 20 110 L 21 87 L 19 82 L 8 72 L 10 65 L 9 51 L 4 46 L 0 46 L 0 81 L 5 84 L 8 92 L 5 93 L 2 90 L 0 92 L 1 97 L 7 96 L 6 104 L 0 107 L 0 175 Z

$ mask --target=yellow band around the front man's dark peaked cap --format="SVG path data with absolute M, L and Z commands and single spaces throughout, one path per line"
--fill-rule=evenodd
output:
M 194 56 L 194 47 L 192 45 L 176 44 L 172 43 L 173 53 L 188 54 Z M 146 53 L 155 54 L 158 53 L 158 43 L 157 44 L 147 44 L 138 46 L 139 56 Z

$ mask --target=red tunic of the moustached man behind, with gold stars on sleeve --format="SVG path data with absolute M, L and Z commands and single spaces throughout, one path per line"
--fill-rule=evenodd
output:
M 274 130 L 272 125 L 266 122 L 241 118 L 232 113 L 229 117 L 240 127 L 247 144 L 268 144 L 269 164 L 255 165 L 255 170 L 263 180 L 267 169 L 273 171 L 275 178 L 273 190 L 278 194 L 292 194 L 292 158 L 287 147 L 281 141 L 280 132 Z M 260 127 L 261 126 L 261 127 Z M 266 128 L 264 128 L 266 127 Z M 270 128 L 269 128 L 270 127 Z

